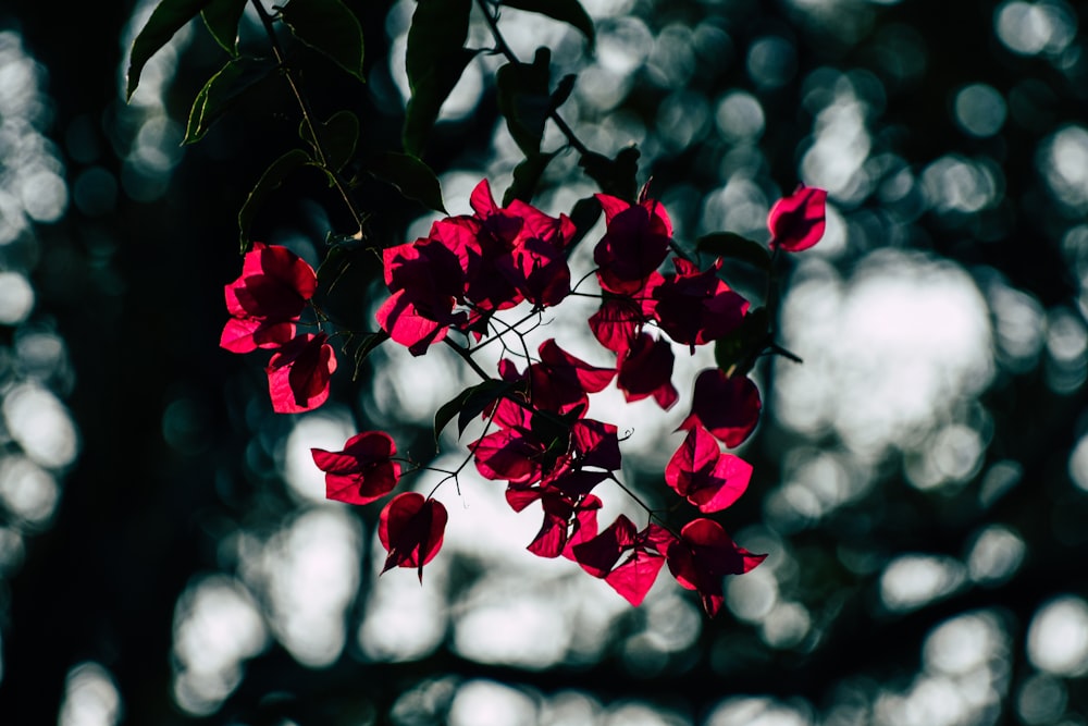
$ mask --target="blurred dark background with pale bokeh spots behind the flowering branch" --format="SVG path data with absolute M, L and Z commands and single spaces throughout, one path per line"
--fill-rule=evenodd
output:
M 348 4 L 366 87 L 295 52 L 320 115 L 350 109 L 363 152 L 393 148 L 415 3 Z M 765 416 L 741 452 L 755 476 L 722 517 L 766 563 L 727 582 L 714 620 L 667 575 L 631 608 L 526 552 L 536 515 L 465 477 L 440 490 L 450 524 L 423 586 L 379 580 L 376 507 L 325 502 L 309 447 L 383 428 L 429 456 L 433 411 L 468 379 L 442 350 L 409 361 L 387 345 L 355 382 L 342 360 L 333 403 L 275 416 L 264 360 L 218 347 L 237 210 L 297 144 L 285 89 L 259 86 L 183 147 L 188 106 L 225 61 L 202 27 L 156 56 L 126 104 L 153 1 L 8 0 L 0 722 L 1088 723 L 1088 9 L 583 5 L 592 53 L 542 16 L 507 10 L 502 27 L 526 60 L 548 45 L 553 77 L 578 73 L 562 114 L 588 146 L 638 145 L 678 239 L 766 241 L 775 199 L 799 181 L 829 192 L 825 239 L 787 260 L 780 337 L 804 365 L 757 368 Z M 260 40 L 247 15 L 243 45 Z M 491 45 L 480 16 L 470 44 Z M 500 194 L 520 160 L 497 64 L 469 66 L 428 147 L 454 213 L 484 176 Z M 560 141 L 549 127 L 545 148 Z M 535 202 L 569 212 L 594 190 L 560 156 Z M 374 181 L 359 199 L 383 244 L 434 219 Z M 311 263 L 326 232 L 350 232 L 317 174 L 272 202 L 255 236 Z M 372 329 L 376 269 L 351 261 L 330 305 Z M 542 334 L 605 364 L 569 307 Z M 707 364 L 679 355 L 675 380 L 690 389 Z M 594 401 L 629 428 L 625 477 L 646 492 L 679 444 L 681 394 L 665 416 L 614 391 Z M 437 464 L 456 463 L 463 448 L 443 444 Z

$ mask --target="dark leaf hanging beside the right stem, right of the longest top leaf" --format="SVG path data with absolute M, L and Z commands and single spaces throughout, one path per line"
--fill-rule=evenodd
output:
M 544 122 L 552 111 L 548 93 L 552 52 L 537 48 L 532 63 L 507 63 L 495 74 L 498 110 L 526 156 L 541 150 Z

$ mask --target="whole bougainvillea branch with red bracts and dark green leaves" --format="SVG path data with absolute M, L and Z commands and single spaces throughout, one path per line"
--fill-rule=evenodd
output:
M 577 0 L 506 0 L 502 4 L 568 22 L 593 41 L 593 24 Z M 367 216 L 343 176 L 355 162 L 359 121 L 347 111 L 324 123 L 316 121 L 281 48 L 276 23 L 360 79 L 362 33 L 341 0 L 290 0 L 274 13 L 254 0 L 273 51 L 271 60 L 262 61 L 238 53 L 237 26 L 244 5 L 239 0 L 162 0 L 136 39 L 128 93 L 135 90 L 147 59 L 198 13 L 231 59 L 198 95 L 186 140 L 197 140 L 207 132 L 251 83 L 254 71 L 274 69 L 286 77 L 302 115 L 304 147 L 274 161 L 243 205 L 243 271 L 225 287 L 231 319 L 221 345 L 234 353 L 273 350 L 267 367 L 273 408 L 299 413 L 329 397 L 336 356 L 326 330 L 333 335 L 350 331 L 338 330 L 313 304 L 314 270 L 286 248 L 250 244 L 249 222 L 268 192 L 305 165 L 327 175 L 359 224 L 341 238 L 364 242 Z M 456 471 L 444 472 L 443 482 L 456 480 L 463 466 L 473 462 L 483 478 L 506 482 L 506 499 L 515 510 L 540 502 L 543 522 L 528 545 L 531 552 L 573 559 L 634 605 L 668 564 L 677 581 L 695 590 L 706 612 L 714 615 L 722 604 L 724 577 L 749 571 L 766 556 L 738 546 L 720 524 L 704 515 L 729 507 L 747 488 L 751 466 L 721 447 L 741 445 L 755 429 L 762 404 L 749 372 L 758 356 L 778 350 L 772 316 L 764 307 L 753 308 L 730 288 L 722 279 L 725 259 L 754 262 L 771 280 L 778 250 L 800 251 L 823 235 L 826 194 L 801 186 L 774 206 L 768 218 L 770 250 L 719 233 L 696 241 L 694 253 L 684 251 L 673 239 L 665 208 L 650 197 L 648 183 L 635 195 L 638 151 L 625 149 L 608 159 L 589 150 L 558 113 L 574 77 L 560 79 L 553 89 L 548 49 L 539 49 L 531 63 L 522 63 L 499 33 L 498 4 L 479 0 L 479 5 L 495 38 L 494 51 L 508 61 L 496 75 L 498 104 L 526 158 L 515 169 L 514 184 L 502 205 L 484 180 L 472 193 L 472 214 L 445 217 L 434 222 L 425 237 L 374 250 L 382 259 L 390 297 L 378 309 L 378 330 L 368 335 L 363 353 L 390 339 L 413 356 L 443 344 L 480 376 L 479 384 L 435 414 L 436 440 L 454 418 L 460 433 L 473 420 L 484 427 L 468 444 L 465 463 Z M 406 109 L 404 148 L 386 152 L 366 169 L 435 210 L 442 210 L 441 190 L 420 157 L 442 101 L 480 52 L 465 47 L 471 10 L 472 0 L 418 0 L 408 36 L 412 95 Z M 567 144 L 544 151 L 542 139 L 549 120 Z M 532 206 L 533 190 L 548 162 L 569 150 L 580 155 L 582 170 L 602 192 L 580 200 L 570 216 L 551 217 Z M 581 282 L 572 284 L 570 251 L 602 212 L 606 231 L 593 248 L 595 269 L 579 278 L 595 276 L 599 292 L 581 292 Z M 663 271 L 670 253 L 671 270 Z M 696 261 L 701 253 L 709 253 L 715 261 L 701 266 Z M 592 366 L 555 340 L 545 341 L 535 355 L 529 352 L 524 335 L 535 327 L 534 320 L 572 294 L 599 298 L 598 309 L 586 322 L 613 354 L 614 366 Z M 316 332 L 298 333 L 308 306 Z M 499 315 L 519 306 L 529 312 L 515 322 Z M 511 345 L 511 337 L 518 343 Z M 497 374 L 491 376 L 473 356 L 495 341 L 502 342 L 506 355 Z M 709 344 L 715 346 L 717 367 L 695 378 L 692 408 L 678 429 L 687 435 L 664 472 L 679 497 L 677 504 L 687 502 L 691 508 L 658 512 L 617 478 L 622 460 L 618 429 L 588 418 L 590 395 L 615 381 L 628 402 L 653 398 L 668 410 L 679 399 L 672 381 L 673 346 L 694 354 L 696 347 Z M 512 353 L 516 349 L 520 352 Z M 524 360 L 523 370 L 518 369 L 518 357 Z M 326 495 L 355 505 L 385 499 L 408 471 L 426 468 L 398 456 L 392 436 L 383 431 L 361 432 L 338 452 L 314 448 L 312 454 L 325 472 Z M 595 491 L 606 481 L 618 484 L 643 506 L 645 526 L 640 529 L 625 516 L 607 527 L 598 525 L 602 500 Z M 422 581 L 424 565 L 442 545 L 446 521 L 445 508 L 432 495 L 401 492 L 392 496 L 379 526 L 388 553 L 385 569 L 415 568 Z

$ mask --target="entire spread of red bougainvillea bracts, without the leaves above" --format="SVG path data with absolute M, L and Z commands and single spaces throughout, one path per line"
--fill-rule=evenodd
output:
M 714 615 L 724 601 L 725 576 L 746 573 L 766 557 L 738 546 L 707 516 L 731 506 L 747 489 L 752 467 L 722 446 L 740 446 L 758 423 L 755 383 L 735 367 L 696 376 L 691 410 L 677 429 L 687 434 L 664 472 L 689 513 L 671 507 L 666 518 L 643 505 L 648 517 L 641 529 L 626 516 L 606 527 L 597 521 L 597 488 L 619 482 L 622 459 L 617 427 L 588 413 L 590 396 L 613 382 L 628 402 L 652 397 L 670 409 L 679 398 L 672 382 L 675 346 L 694 353 L 741 334 L 752 324 L 750 305 L 721 280 L 721 259 L 701 267 L 681 251 L 667 212 L 645 188 L 635 204 L 605 194 L 596 200 L 606 231 L 593 250 L 601 305 L 588 323 L 615 365 L 593 366 L 547 340 L 535 356 L 526 350 L 523 370 L 504 357 L 497 377 L 490 378 L 471 360 L 470 347 L 453 343 L 485 380 L 443 408 L 453 406 L 461 419 L 483 421 L 483 433 L 468 445 L 469 456 L 484 479 L 505 482 L 511 508 L 521 512 L 540 503 L 543 520 L 529 542 L 531 552 L 573 559 L 633 605 L 667 564 L 677 582 L 695 590 Z M 824 233 L 825 200 L 821 189 L 802 186 L 778 201 L 768 216 L 772 249 L 798 251 L 816 244 Z M 517 324 L 494 324 L 495 313 L 521 303 L 539 312 L 572 292 L 567 258 L 576 230 L 569 218 L 549 217 L 521 201 L 499 207 L 486 181 L 473 190 L 471 206 L 472 214 L 442 219 L 426 237 L 383 253 L 391 295 L 376 322 L 413 355 L 425 354 L 450 331 L 475 342 L 521 335 Z M 663 272 L 670 253 L 671 271 Z M 243 275 L 226 287 L 233 318 L 222 345 L 238 353 L 276 349 L 268 368 L 276 410 L 305 410 L 327 396 L 335 358 L 324 333 L 295 334 L 316 287 L 309 266 L 264 245 L 246 256 Z M 359 433 L 339 452 L 314 448 L 312 455 L 325 472 L 326 496 L 349 504 L 385 497 L 403 473 L 404 459 L 382 431 Z M 385 569 L 415 568 L 422 580 L 423 566 L 442 545 L 446 520 L 445 507 L 431 496 L 393 496 L 379 525 L 388 553 Z

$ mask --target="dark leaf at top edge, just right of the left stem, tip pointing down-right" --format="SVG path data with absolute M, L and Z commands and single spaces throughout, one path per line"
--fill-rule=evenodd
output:
M 280 15 L 296 38 L 324 53 L 359 81 L 362 71 L 362 26 L 341 0 L 290 0 Z

